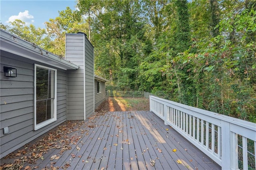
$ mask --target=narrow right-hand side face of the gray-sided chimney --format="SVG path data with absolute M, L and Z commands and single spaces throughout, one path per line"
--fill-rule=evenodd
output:
M 94 51 L 89 40 L 85 39 L 85 103 L 86 118 L 94 113 Z

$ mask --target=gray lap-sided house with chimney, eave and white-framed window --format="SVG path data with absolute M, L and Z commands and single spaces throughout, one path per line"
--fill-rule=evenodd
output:
M 94 48 L 85 34 L 66 35 L 65 59 L 4 30 L 0 44 L 0 158 L 64 121 L 86 119 L 103 101 L 94 102 Z

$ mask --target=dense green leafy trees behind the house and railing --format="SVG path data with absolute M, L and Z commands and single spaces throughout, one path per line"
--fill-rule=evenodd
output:
M 64 56 L 65 33 L 85 32 L 95 73 L 112 90 L 141 90 L 256 122 L 256 5 L 250 0 L 79 0 L 46 22 L 0 25 Z

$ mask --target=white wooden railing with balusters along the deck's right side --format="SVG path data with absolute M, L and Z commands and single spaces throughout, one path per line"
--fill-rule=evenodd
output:
M 244 170 L 255 169 L 255 123 L 155 96 L 150 96 L 150 111 L 212 158 L 223 170 L 237 170 L 238 159 Z M 241 138 L 241 142 L 238 138 Z M 238 142 L 242 144 L 239 146 Z M 242 150 L 242 156 L 238 156 L 238 150 Z M 248 165 L 248 157 L 254 166 Z

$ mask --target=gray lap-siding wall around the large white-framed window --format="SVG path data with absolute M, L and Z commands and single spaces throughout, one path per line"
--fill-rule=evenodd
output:
M 57 121 L 34 130 L 35 61 L 5 51 L 0 52 L 0 158 L 2 158 L 66 121 L 67 82 L 66 71 L 57 69 Z M 44 63 L 37 64 L 45 65 Z M 4 77 L 4 66 L 15 67 L 17 77 Z M 8 134 L 3 133 L 4 127 L 9 127 Z

